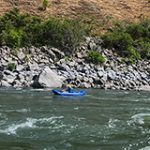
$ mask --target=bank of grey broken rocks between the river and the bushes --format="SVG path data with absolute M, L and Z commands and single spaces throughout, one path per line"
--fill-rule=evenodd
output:
M 99 51 L 105 63 L 88 62 L 90 50 Z M 0 52 L 0 87 L 55 88 L 65 82 L 80 88 L 150 91 L 150 61 L 131 64 L 113 50 L 103 49 L 98 38 L 86 38 L 69 57 L 46 46 L 21 48 L 17 53 L 3 46 Z

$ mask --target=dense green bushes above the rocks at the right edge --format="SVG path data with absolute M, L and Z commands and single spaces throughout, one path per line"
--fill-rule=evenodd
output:
M 102 36 L 103 46 L 114 48 L 122 57 L 132 61 L 150 59 L 150 20 L 122 26 L 117 25 Z

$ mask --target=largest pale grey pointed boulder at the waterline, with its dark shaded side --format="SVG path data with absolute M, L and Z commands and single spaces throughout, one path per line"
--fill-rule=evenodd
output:
M 48 66 L 35 78 L 34 88 L 57 88 L 62 86 L 62 79 Z

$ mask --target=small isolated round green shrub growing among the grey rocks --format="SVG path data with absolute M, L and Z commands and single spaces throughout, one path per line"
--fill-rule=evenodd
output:
M 93 62 L 94 64 L 103 64 L 105 62 L 105 58 L 95 50 L 89 52 L 88 60 Z

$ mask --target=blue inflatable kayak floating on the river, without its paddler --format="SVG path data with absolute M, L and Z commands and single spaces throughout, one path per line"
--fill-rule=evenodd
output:
M 63 92 L 61 90 L 52 90 L 52 92 L 56 95 L 61 95 L 61 96 L 83 96 L 85 95 L 85 91 L 73 91 L 73 92 Z

